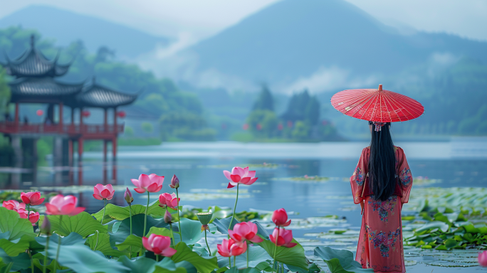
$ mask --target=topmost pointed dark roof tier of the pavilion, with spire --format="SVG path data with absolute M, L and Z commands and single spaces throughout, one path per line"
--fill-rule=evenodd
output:
M 59 65 L 59 54 L 53 60 L 48 60 L 41 51 L 37 50 L 34 36 L 31 36 L 31 47 L 15 60 L 6 56 L 6 63 L 2 64 L 6 73 L 16 77 L 58 77 L 66 74 L 70 64 Z

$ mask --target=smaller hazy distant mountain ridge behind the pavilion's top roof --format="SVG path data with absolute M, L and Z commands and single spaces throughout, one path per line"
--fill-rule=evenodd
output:
M 105 45 L 115 50 L 119 58 L 135 58 L 170 41 L 167 37 L 152 36 L 134 28 L 51 6 L 28 6 L 0 18 L 0 28 L 19 25 L 36 29 L 46 37 L 56 37 L 56 45 L 60 46 L 81 40 L 93 53 Z

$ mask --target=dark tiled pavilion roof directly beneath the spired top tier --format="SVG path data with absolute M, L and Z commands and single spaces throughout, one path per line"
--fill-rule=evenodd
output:
M 64 102 L 83 89 L 83 83 L 69 84 L 52 77 L 23 77 L 9 85 L 11 102 Z

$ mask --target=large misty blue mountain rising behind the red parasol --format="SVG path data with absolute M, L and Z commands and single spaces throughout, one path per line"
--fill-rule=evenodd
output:
M 173 60 L 184 65 L 173 75 L 213 87 L 267 82 L 320 92 L 375 86 L 429 60 L 485 63 L 486 52 L 486 42 L 445 33 L 403 35 L 343 0 L 283 0 L 180 52 Z

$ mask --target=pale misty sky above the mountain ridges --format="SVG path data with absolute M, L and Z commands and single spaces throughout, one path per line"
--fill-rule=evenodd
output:
M 184 39 L 187 44 L 212 36 L 277 1 L 286 0 L 0 0 L 0 18 L 43 4 L 157 36 Z M 487 0 L 346 1 L 392 26 L 487 41 Z

